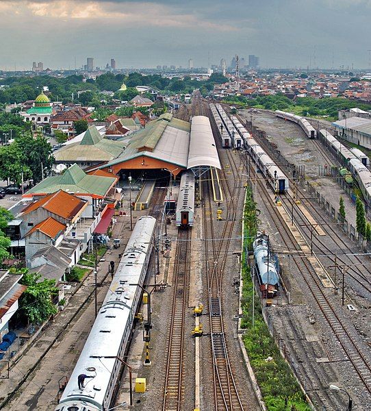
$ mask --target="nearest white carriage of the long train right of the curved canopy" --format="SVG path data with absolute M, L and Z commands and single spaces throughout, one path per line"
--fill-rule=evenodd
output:
M 261 173 L 263 173 L 264 177 L 268 179 L 274 192 L 278 192 L 279 194 L 287 192 L 289 189 L 289 180 L 283 174 L 281 169 L 274 164 L 269 155 L 266 154 L 253 138 L 247 140 L 246 144 L 249 147 L 248 150 L 250 151 L 251 157 L 261 170 Z

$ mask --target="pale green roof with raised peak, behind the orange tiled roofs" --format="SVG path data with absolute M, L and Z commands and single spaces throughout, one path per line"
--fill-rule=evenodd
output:
M 77 164 L 73 164 L 62 175 L 47 177 L 42 182 L 36 184 L 26 194 L 51 193 L 58 190 L 64 190 L 78 194 L 88 193 L 105 196 L 110 187 L 115 182 L 114 177 L 101 177 L 97 175 L 88 175 L 80 169 Z

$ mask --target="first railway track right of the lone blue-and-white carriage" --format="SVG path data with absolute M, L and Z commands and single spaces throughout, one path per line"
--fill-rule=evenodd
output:
M 252 168 L 253 169 L 253 168 Z M 256 171 L 254 171 L 255 173 Z M 269 204 L 272 203 L 272 199 L 269 197 L 264 183 L 258 179 L 260 187 L 260 194 L 264 197 L 264 201 Z M 288 229 L 285 221 L 283 221 L 281 214 L 275 206 L 267 207 L 267 210 L 276 224 L 279 222 L 279 234 L 283 240 L 285 247 L 291 251 L 300 253 L 300 247 L 292 237 L 290 229 Z M 331 328 L 333 335 L 337 339 L 344 351 L 344 360 L 348 360 L 355 370 L 355 374 L 359 377 L 359 381 L 366 387 L 369 393 L 371 393 L 371 366 L 368 360 L 368 355 L 357 344 L 356 330 L 350 329 L 348 325 L 345 325 L 340 315 L 337 314 L 333 303 L 329 300 L 329 297 L 325 294 L 322 284 L 316 274 L 313 267 L 305 256 L 297 256 L 293 253 L 292 260 L 296 265 L 298 272 L 302 275 L 307 289 L 311 292 L 312 297 L 316 301 L 316 304 L 322 313 L 324 320 Z

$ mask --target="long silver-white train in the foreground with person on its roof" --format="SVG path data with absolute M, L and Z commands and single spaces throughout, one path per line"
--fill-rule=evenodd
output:
M 55 411 L 106 411 L 117 388 L 121 363 L 115 358 L 127 351 L 134 316 L 139 308 L 147 266 L 152 251 L 156 220 L 142 216 L 133 229 L 110 289 L 59 405 Z M 78 376 L 88 375 L 84 388 Z

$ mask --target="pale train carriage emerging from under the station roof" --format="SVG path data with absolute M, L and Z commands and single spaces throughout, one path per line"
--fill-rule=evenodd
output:
M 185 171 L 181 176 L 175 221 L 177 227 L 193 227 L 194 174 L 192 171 Z

